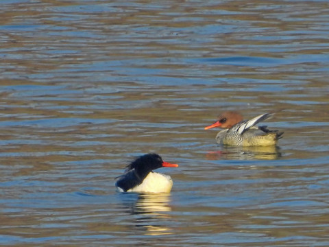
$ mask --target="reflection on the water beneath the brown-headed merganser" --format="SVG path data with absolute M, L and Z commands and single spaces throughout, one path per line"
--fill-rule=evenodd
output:
M 206 157 L 210 160 L 216 160 L 219 158 L 236 160 L 275 160 L 281 156 L 279 150 L 280 148 L 278 148 L 276 145 L 247 147 L 224 146 L 220 151 L 208 152 Z

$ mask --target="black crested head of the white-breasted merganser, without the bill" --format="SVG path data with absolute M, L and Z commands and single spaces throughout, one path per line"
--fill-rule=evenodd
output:
M 163 161 L 158 154 L 144 154 L 127 165 L 127 170 L 135 169 L 139 175 L 149 174 L 154 169 L 162 167 Z

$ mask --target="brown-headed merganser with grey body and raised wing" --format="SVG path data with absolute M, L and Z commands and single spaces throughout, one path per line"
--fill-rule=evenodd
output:
M 204 128 L 208 130 L 214 127 L 226 128 L 218 132 L 216 141 L 222 145 L 232 146 L 268 146 L 276 145 L 283 132 L 269 130 L 267 126 L 259 126 L 260 121 L 272 117 L 273 113 L 265 113 L 253 119 L 243 121 L 242 115 L 234 111 L 227 111 L 219 116 L 219 120 Z

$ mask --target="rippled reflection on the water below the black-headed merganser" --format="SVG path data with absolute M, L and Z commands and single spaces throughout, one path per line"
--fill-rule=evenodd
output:
M 132 196 L 134 193 L 123 193 L 121 196 Z M 173 231 L 169 227 L 171 199 L 169 193 L 141 193 L 136 194 L 138 198 L 126 199 L 125 206 L 134 215 L 134 226 L 145 232 L 145 235 L 168 235 Z M 127 200 L 129 199 L 129 200 Z

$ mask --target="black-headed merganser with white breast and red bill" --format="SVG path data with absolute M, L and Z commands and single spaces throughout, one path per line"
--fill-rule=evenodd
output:
M 169 193 L 173 187 L 170 176 L 152 172 L 160 167 L 178 167 L 162 161 L 158 154 L 145 154 L 127 165 L 125 174 L 119 176 L 115 183 L 120 192 L 154 192 Z

